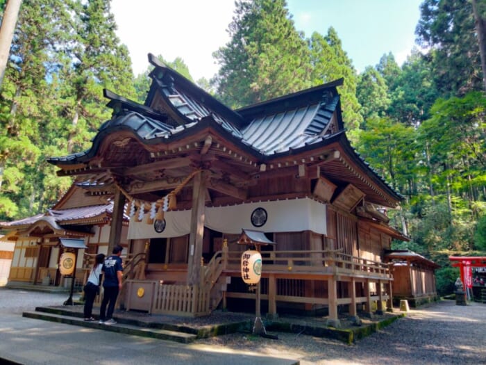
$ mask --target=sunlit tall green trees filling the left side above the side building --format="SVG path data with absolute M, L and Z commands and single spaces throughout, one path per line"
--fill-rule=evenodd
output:
M 90 145 L 110 117 L 103 88 L 134 95 L 115 29 L 109 1 L 22 2 L 0 98 L 0 220 L 45 211 L 67 190 L 45 159 Z

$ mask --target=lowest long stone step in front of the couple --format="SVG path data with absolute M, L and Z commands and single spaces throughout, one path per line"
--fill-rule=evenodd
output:
M 162 330 L 160 328 L 140 327 L 127 323 L 116 323 L 115 325 L 105 325 L 98 321 L 86 322 L 83 318 L 76 316 L 66 316 L 62 314 L 47 313 L 46 311 L 24 311 L 22 316 L 26 318 L 40 319 L 57 323 L 66 323 L 69 325 L 78 325 L 81 327 L 96 328 L 111 332 L 132 334 L 135 336 L 150 337 L 153 339 L 162 339 L 167 341 L 176 341 L 180 343 L 190 343 L 196 339 L 196 334 L 186 332 L 176 332 L 171 330 Z M 117 318 L 115 318 L 116 320 Z

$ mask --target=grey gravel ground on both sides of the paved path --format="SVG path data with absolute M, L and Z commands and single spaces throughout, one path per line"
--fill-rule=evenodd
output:
M 66 294 L 0 288 L 0 312 L 22 314 L 59 305 Z M 303 334 L 278 333 L 278 340 L 228 334 L 196 341 L 219 350 L 248 350 L 310 364 L 486 364 L 486 305 L 457 306 L 452 300 L 412 309 L 405 318 L 353 345 Z

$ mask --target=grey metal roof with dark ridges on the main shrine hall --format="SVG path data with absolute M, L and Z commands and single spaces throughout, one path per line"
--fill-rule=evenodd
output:
M 351 161 L 376 186 L 380 186 L 394 200 L 403 198 L 376 170 L 369 167 L 351 147 L 349 140 L 343 137 L 340 95 L 336 89 L 342 85 L 342 79 L 232 111 L 174 70 L 162 65 L 155 57 L 149 55 L 149 60 L 156 69 L 150 74 L 153 83 L 145 105 L 105 92 L 111 99 L 108 106 L 114 108 L 115 113 L 111 120 L 101 125 L 92 147 L 69 156 L 51 157 L 47 161 L 54 165 L 90 161 L 104 138 L 117 131 L 131 131 L 135 138 L 146 145 L 168 145 L 212 127 L 222 138 L 242 147 L 262 163 L 326 147 L 337 141 Z M 159 99 L 156 100 L 156 97 Z M 149 107 L 154 100 L 155 104 L 164 104 L 162 108 L 160 105 L 157 107 L 163 111 Z M 176 123 L 179 125 L 174 125 Z M 138 160 L 125 162 L 137 163 Z M 333 168 L 332 163 L 328 163 L 326 168 Z M 335 174 L 343 173 L 342 163 L 335 168 L 339 170 Z M 344 179 L 341 175 L 338 177 Z M 369 185 L 366 181 L 363 184 Z

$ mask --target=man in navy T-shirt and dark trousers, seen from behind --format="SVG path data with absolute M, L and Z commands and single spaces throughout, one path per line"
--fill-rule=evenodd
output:
M 105 325 L 117 323 L 113 319 L 113 311 L 115 311 L 115 303 L 121 290 L 121 275 L 123 273 L 123 265 L 120 258 L 121 250 L 123 250 L 121 245 L 116 245 L 113 248 L 113 254 L 105 259 L 101 269 L 105 279 L 103 280 L 104 293 L 99 311 L 99 323 L 104 323 Z M 107 306 L 108 311 L 106 311 Z

